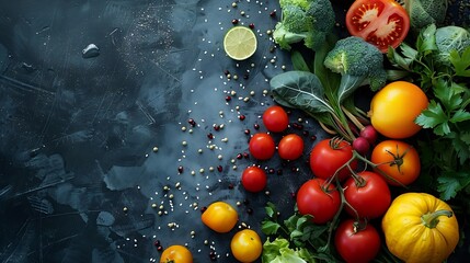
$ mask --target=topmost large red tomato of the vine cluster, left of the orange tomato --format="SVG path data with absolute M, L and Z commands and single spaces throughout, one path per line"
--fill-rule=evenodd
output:
M 353 147 L 347 141 L 337 138 L 323 139 L 310 152 L 310 169 L 317 178 L 326 180 L 352 158 Z M 356 160 L 351 163 L 351 168 L 357 168 Z M 340 181 L 349 175 L 347 167 L 337 172 Z

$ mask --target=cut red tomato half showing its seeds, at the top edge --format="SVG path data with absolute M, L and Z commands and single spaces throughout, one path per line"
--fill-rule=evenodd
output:
M 356 0 L 347 10 L 349 34 L 363 37 L 387 53 L 397 48 L 410 30 L 406 10 L 393 0 Z

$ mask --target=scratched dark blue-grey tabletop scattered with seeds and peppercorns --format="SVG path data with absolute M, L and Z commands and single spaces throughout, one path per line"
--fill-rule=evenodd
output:
M 249 194 L 239 176 L 256 162 L 237 158 L 273 104 L 267 80 L 290 68 L 266 33 L 277 1 L 232 2 L 0 1 L 0 262 L 156 262 L 157 240 L 234 262 L 237 229 L 208 230 L 202 207 L 229 202 L 256 230 L 267 201 L 291 213 L 306 159 L 257 162 L 276 172 Z M 222 49 L 233 19 L 255 26 L 247 61 Z M 308 146 L 325 136 L 298 118 Z

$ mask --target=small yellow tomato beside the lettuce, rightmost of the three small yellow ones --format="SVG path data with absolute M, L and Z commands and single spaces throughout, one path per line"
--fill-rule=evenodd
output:
M 260 258 L 263 251 L 263 243 L 254 230 L 243 229 L 233 236 L 230 249 L 238 261 L 250 263 Z

